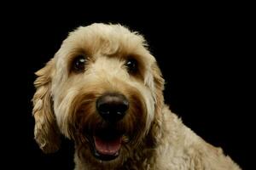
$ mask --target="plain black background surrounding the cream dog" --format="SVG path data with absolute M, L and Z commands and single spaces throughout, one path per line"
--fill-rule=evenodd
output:
M 166 79 L 166 104 L 195 133 L 248 167 L 255 136 L 249 10 L 240 4 L 80 5 L 56 11 L 38 4 L 1 16 L 2 161 L 8 169 L 73 169 L 72 142 L 63 139 L 59 152 L 44 155 L 33 139 L 33 73 L 54 56 L 69 31 L 94 22 L 142 33 Z

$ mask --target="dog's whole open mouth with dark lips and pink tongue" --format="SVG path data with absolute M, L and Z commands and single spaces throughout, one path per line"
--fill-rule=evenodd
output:
M 91 138 L 91 151 L 102 161 L 111 161 L 119 156 L 123 134 L 114 128 L 97 129 Z

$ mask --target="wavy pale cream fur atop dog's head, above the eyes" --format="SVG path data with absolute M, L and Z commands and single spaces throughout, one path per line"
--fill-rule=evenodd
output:
M 79 40 L 79 41 L 78 41 Z M 93 41 L 92 41 L 93 40 Z M 146 47 L 147 42 L 136 31 L 131 32 L 124 26 L 93 24 L 90 26 L 80 26 L 77 30 L 69 33 L 69 37 L 64 44 L 73 43 L 77 48 L 86 47 L 88 51 L 96 53 L 101 50 L 102 54 L 116 54 L 119 50 L 123 53 L 131 53 Z

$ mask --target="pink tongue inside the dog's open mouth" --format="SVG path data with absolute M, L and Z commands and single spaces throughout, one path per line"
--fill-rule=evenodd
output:
M 115 155 L 121 147 L 121 137 L 113 140 L 103 140 L 94 136 L 96 150 L 102 155 Z

